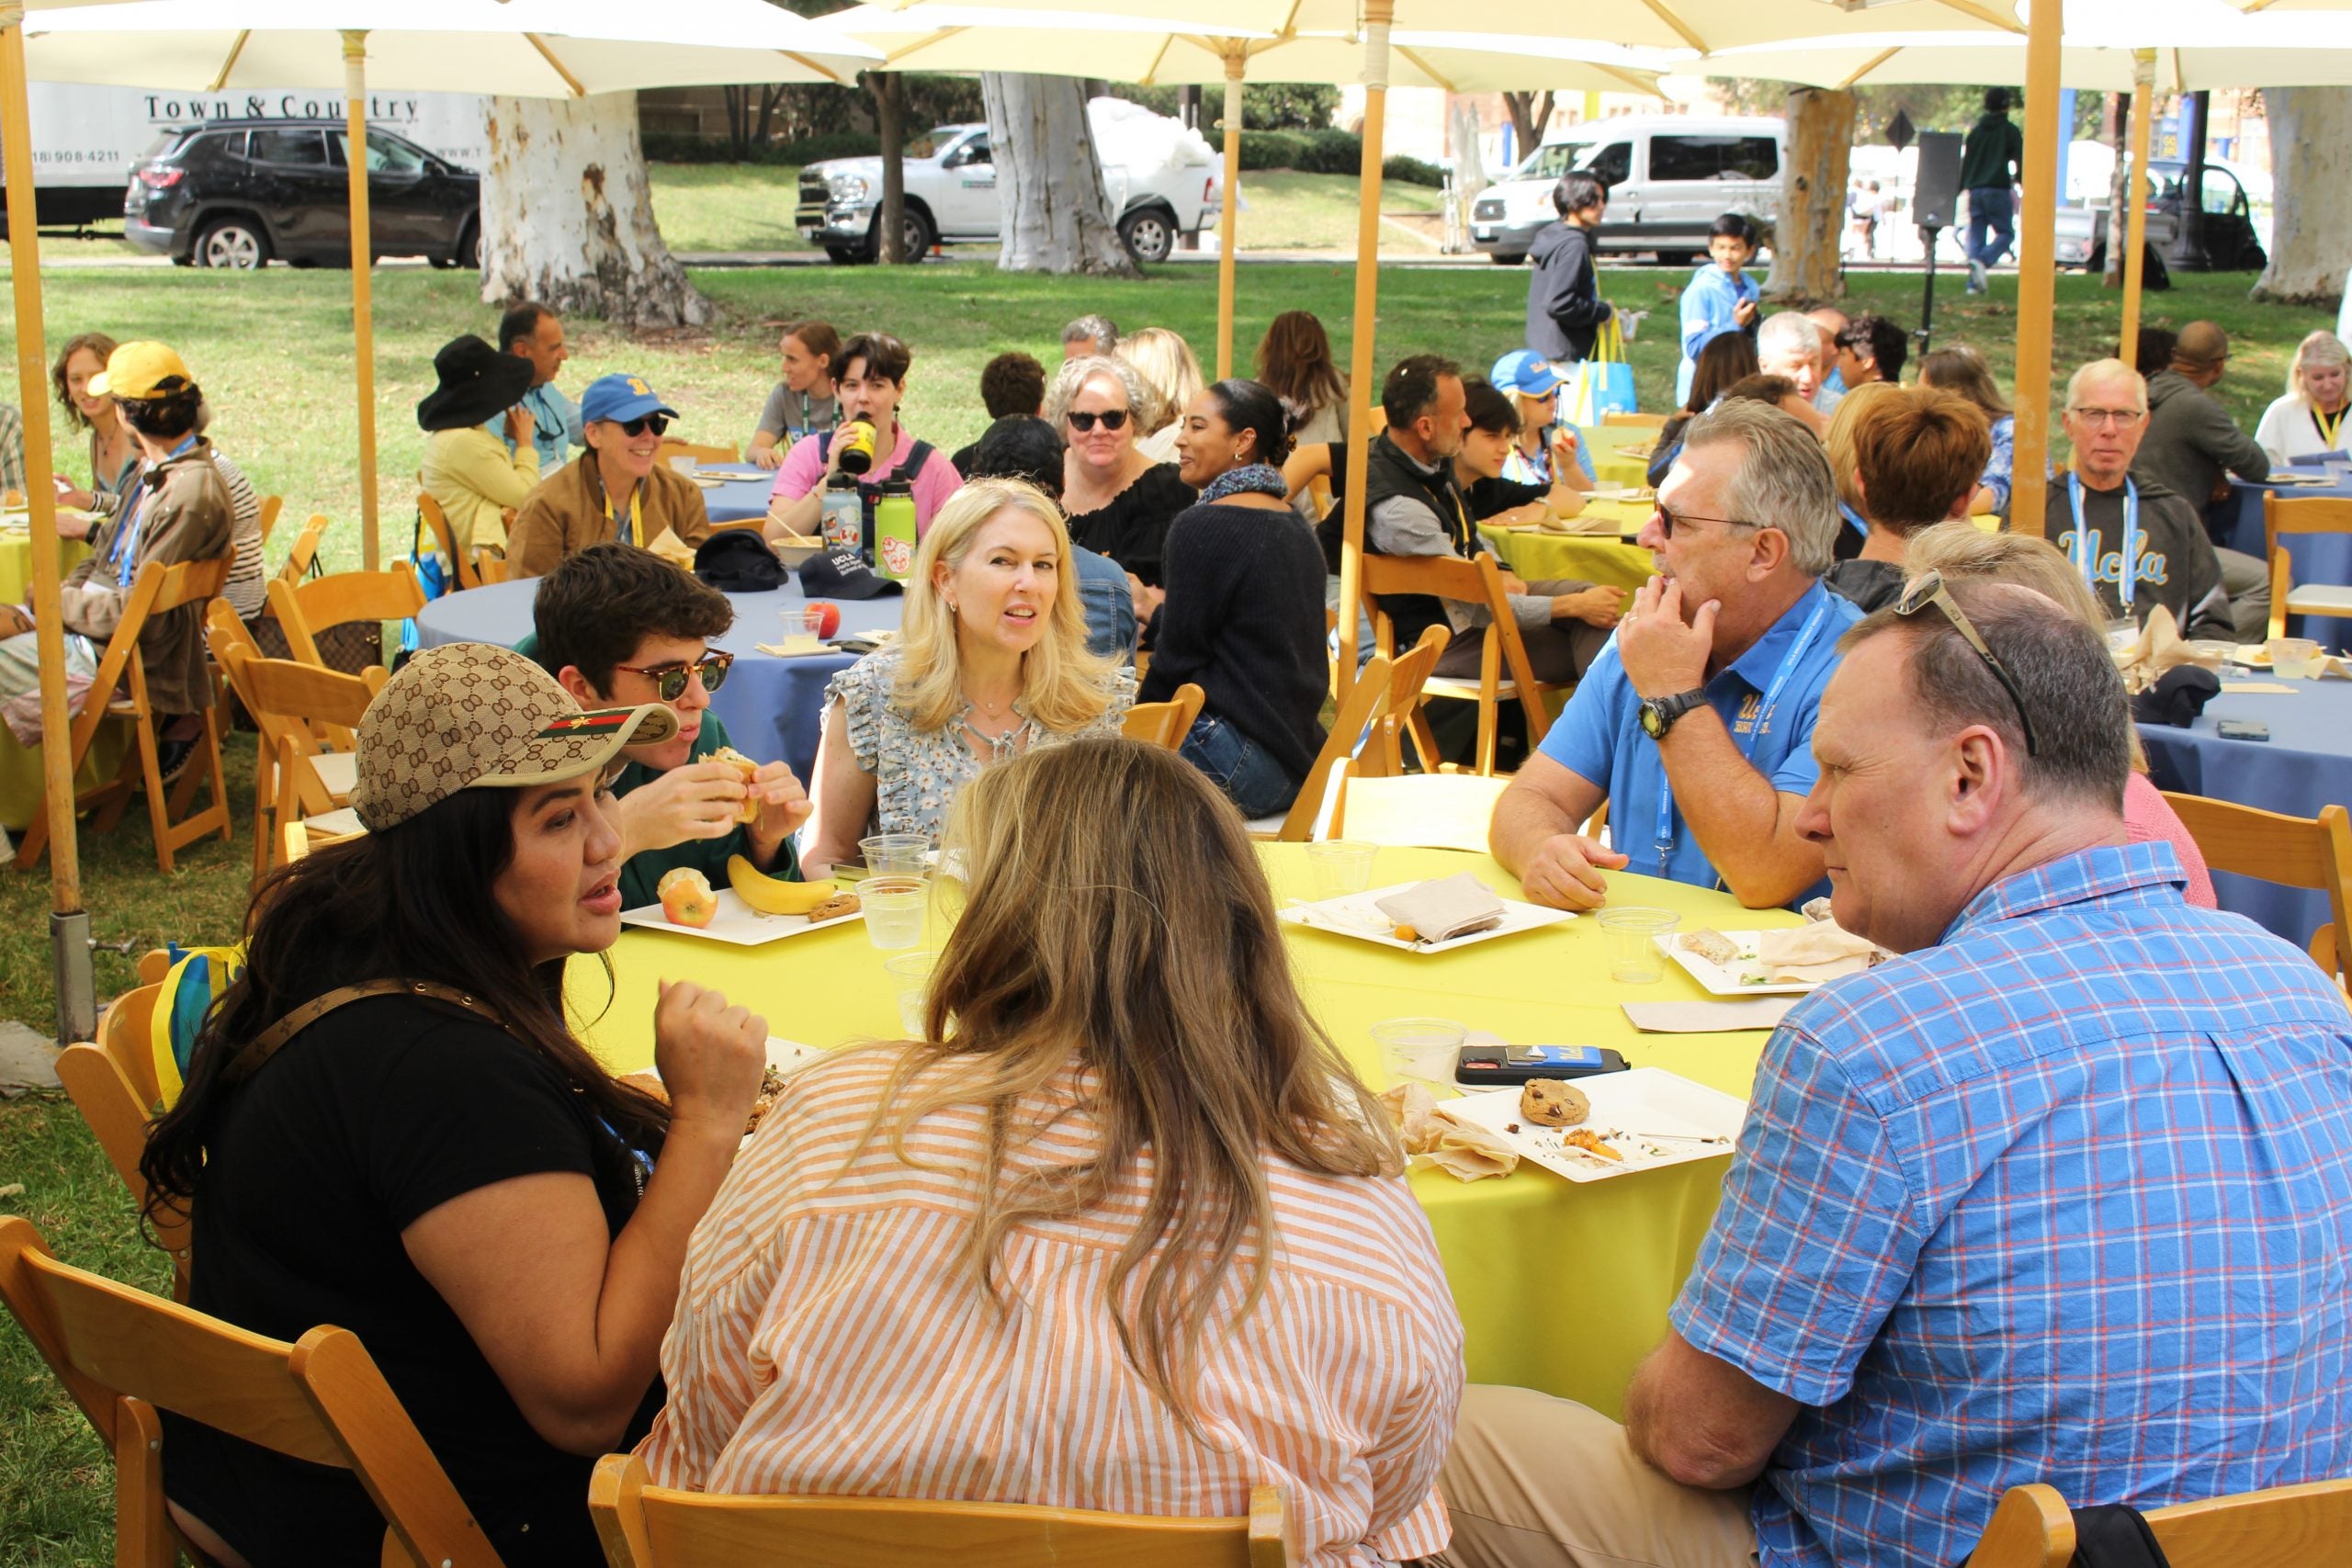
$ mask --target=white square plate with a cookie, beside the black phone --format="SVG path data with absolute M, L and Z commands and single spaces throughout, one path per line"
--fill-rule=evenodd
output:
M 1693 1084 L 1665 1067 L 1632 1067 L 1573 1079 L 1592 1100 L 1592 1114 L 1581 1124 L 1625 1159 L 1606 1159 L 1562 1140 L 1578 1128 L 1536 1126 L 1519 1114 L 1519 1091 L 1439 1100 L 1463 1121 L 1475 1121 L 1545 1171 L 1571 1182 L 1604 1182 L 1611 1175 L 1686 1166 L 1693 1159 L 1722 1159 L 1740 1135 L 1748 1100 L 1733 1100 L 1719 1088 Z M 1517 1133 L 1510 1128 L 1519 1128 Z

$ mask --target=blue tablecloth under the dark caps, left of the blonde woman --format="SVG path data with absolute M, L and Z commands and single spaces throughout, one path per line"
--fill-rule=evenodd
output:
M 532 630 L 532 599 L 539 578 L 492 583 L 452 592 L 426 604 L 416 616 L 416 642 L 496 642 L 515 646 Z M 847 670 L 849 654 L 811 654 L 776 658 L 755 642 L 781 642 L 786 621 L 800 632 L 800 614 L 809 599 L 800 583 L 776 592 L 731 592 L 736 623 L 715 646 L 736 656 L 727 684 L 710 693 L 710 712 L 720 715 L 736 750 L 753 762 L 790 762 L 802 783 L 816 776 L 816 738 L 826 717 L 826 682 Z M 842 607 L 842 632 L 877 632 L 898 625 L 898 595 L 877 599 L 835 599 Z

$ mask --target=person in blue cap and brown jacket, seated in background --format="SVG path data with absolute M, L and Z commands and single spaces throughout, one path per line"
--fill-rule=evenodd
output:
M 539 482 L 506 534 L 513 576 L 546 576 L 588 545 L 649 545 L 663 531 L 689 550 L 710 536 L 710 512 L 694 480 L 666 468 L 661 435 L 677 409 L 642 376 L 600 376 L 581 395 L 581 435 L 572 463 Z

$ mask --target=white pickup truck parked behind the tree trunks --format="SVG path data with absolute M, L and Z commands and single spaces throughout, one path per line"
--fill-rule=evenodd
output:
M 1200 132 L 1127 103 L 1091 99 L 1087 118 L 1103 190 L 1136 261 L 1167 261 L 1176 235 L 1211 228 L 1225 174 Z M 938 244 L 997 244 L 1004 209 L 985 125 L 941 125 L 906 141 L 906 254 Z M 882 221 L 882 160 L 828 158 L 800 172 L 793 214 L 809 244 L 840 263 L 873 261 Z

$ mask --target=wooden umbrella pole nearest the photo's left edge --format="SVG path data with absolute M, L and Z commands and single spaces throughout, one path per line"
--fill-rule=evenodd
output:
M 33 628 L 40 649 L 42 806 L 49 813 L 49 950 L 56 1039 L 99 1032 L 89 978 L 89 914 L 73 835 L 73 715 L 66 710 L 66 625 L 59 609 L 56 487 L 49 449 L 49 367 L 40 334 L 40 233 L 33 209 L 33 115 L 24 101 L 24 5 L 0 5 L 0 150 L 7 155 L 9 284 L 16 292 L 16 386 L 24 409 L 24 489 L 33 512 Z M 101 691 L 89 693 L 103 703 Z

